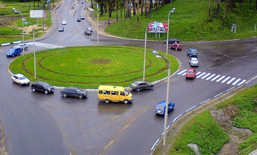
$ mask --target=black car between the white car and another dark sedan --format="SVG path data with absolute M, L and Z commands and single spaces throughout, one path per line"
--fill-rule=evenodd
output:
M 31 90 L 33 92 L 35 91 L 41 91 L 41 92 L 44 92 L 45 94 L 48 94 L 48 93 L 52 93 L 54 92 L 55 88 L 51 85 L 49 85 L 48 83 L 46 82 L 43 82 L 43 81 L 35 81 L 32 85 L 31 85 Z

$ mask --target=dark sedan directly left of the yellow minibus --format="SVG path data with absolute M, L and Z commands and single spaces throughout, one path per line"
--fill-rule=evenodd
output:
M 68 88 L 62 89 L 61 95 L 63 97 L 73 96 L 73 97 L 78 97 L 78 98 L 82 99 L 83 97 L 86 97 L 88 95 L 88 92 L 85 90 L 81 90 L 78 87 L 70 86 Z

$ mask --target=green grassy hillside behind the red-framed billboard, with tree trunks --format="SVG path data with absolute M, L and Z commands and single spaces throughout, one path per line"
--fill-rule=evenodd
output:
M 211 11 L 213 10 L 214 0 L 211 0 Z M 181 41 L 210 41 L 210 40 L 231 40 L 247 38 L 257 35 L 254 32 L 254 25 L 257 23 L 257 11 L 254 9 L 255 2 L 249 3 L 248 0 L 237 2 L 234 10 L 228 10 L 224 22 L 224 29 L 221 30 L 222 18 L 224 15 L 225 4 L 221 2 L 218 18 L 210 21 L 208 16 L 209 0 L 174 0 L 171 3 L 159 8 L 158 15 L 156 9 L 151 11 L 150 17 L 139 14 L 123 19 L 119 18 L 106 28 L 106 32 L 128 38 L 144 39 L 145 29 L 148 22 L 167 22 L 168 13 L 175 7 L 175 12 L 170 14 L 169 37 L 176 37 Z M 95 13 L 97 16 L 97 13 Z M 120 12 L 118 13 L 120 15 Z M 116 17 L 116 12 L 112 12 L 112 17 Z M 120 16 L 119 16 L 120 17 Z M 107 16 L 100 17 L 106 20 Z M 232 23 L 237 24 L 236 34 L 231 33 Z M 122 30 L 122 31 L 120 31 Z M 155 34 L 147 34 L 149 40 L 165 40 L 166 34 L 161 34 L 160 38 L 155 38 Z

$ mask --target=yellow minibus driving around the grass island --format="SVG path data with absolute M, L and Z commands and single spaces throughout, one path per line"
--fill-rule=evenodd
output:
M 133 100 L 133 95 L 123 86 L 99 86 L 97 99 L 104 100 L 105 103 L 123 102 L 125 104 Z

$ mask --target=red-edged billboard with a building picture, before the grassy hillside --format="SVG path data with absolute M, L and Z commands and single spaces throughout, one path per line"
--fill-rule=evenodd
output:
M 158 23 L 154 21 L 148 23 L 148 33 L 167 33 L 168 32 L 168 23 Z

